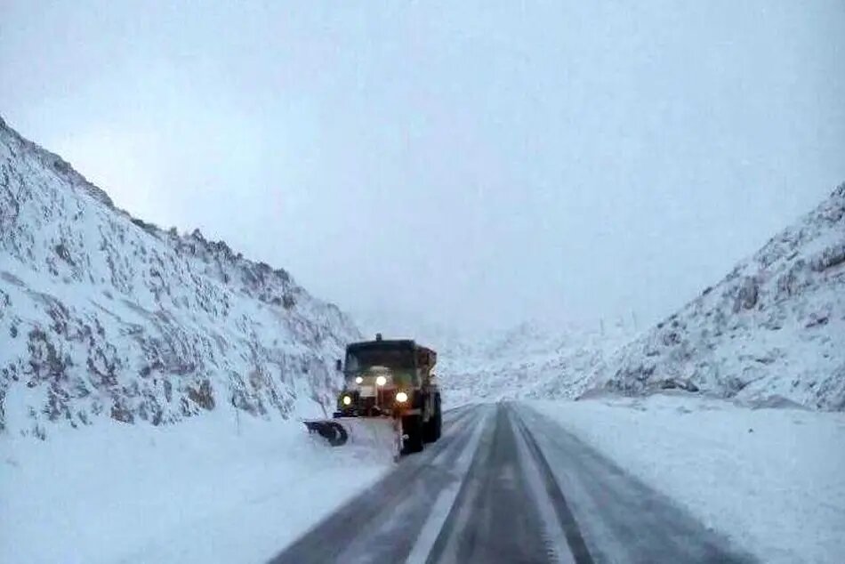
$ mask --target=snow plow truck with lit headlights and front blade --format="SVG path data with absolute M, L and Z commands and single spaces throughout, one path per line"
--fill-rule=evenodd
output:
M 343 389 L 332 419 L 305 426 L 333 447 L 376 445 L 394 458 L 422 451 L 440 438 L 440 391 L 432 372 L 437 353 L 411 340 L 353 342 L 337 360 Z

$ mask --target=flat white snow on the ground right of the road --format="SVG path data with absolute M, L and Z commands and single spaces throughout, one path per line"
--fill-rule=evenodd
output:
M 530 405 L 763 561 L 845 559 L 845 414 L 680 395 Z

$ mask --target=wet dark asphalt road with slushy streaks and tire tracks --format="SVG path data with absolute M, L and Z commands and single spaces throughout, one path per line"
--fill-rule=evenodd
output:
M 307 562 L 749 562 L 672 500 L 519 404 L 443 437 L 291 544 Z

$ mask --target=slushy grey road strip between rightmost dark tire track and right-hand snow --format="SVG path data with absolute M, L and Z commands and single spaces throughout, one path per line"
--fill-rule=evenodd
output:
M 753 562 L 671 498 L 530 407 L 517 407 L 538 461 L 551 474 L 584 546 L 598 561 Z M 544 463 L 542 461 L 545 461 Z M 560 505 L 563 508 L 563 505 Z M 566 514 L 568 513 L 568 515 Z

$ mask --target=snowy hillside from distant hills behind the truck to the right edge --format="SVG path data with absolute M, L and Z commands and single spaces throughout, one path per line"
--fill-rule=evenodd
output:
M 452 405 L 680 388 L 753 405 L 843 410 L 845 184 L 633 341 L 632 321 L 604 325 L 527 322 L 469 339 L 428 324 L 404 334 L 439 351 Z

